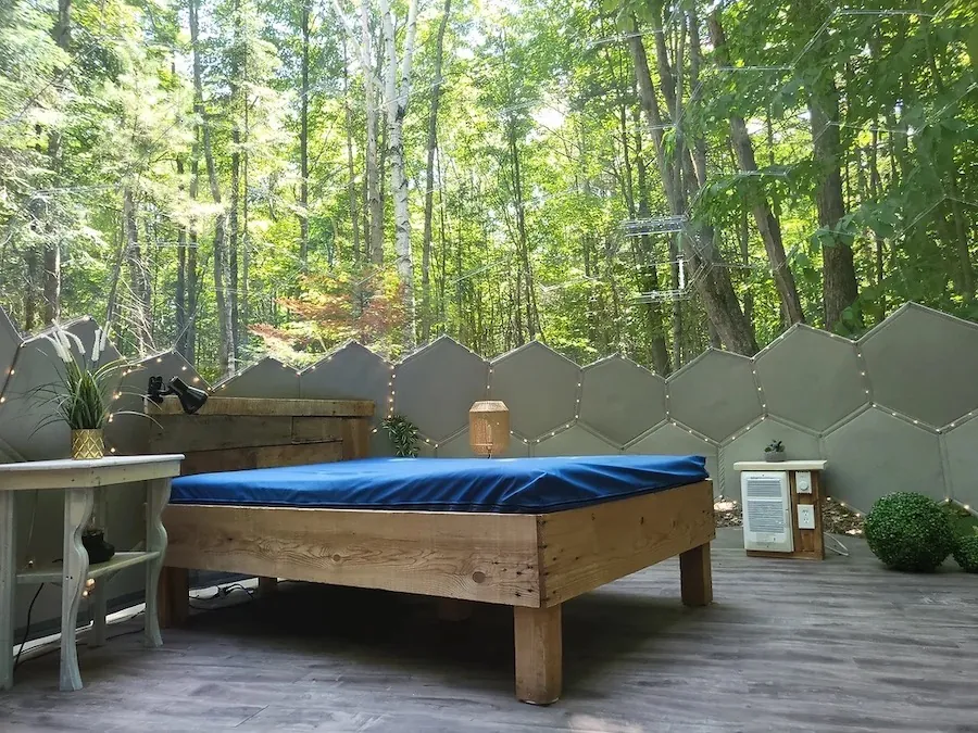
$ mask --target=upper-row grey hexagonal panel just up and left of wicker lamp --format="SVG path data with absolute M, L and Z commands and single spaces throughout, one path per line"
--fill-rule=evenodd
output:
M 468 425 L 468 409 L 486 399 L 489 364 L 441 337 L 394 369 L 398 413 L 428 438 L 442 441 Z

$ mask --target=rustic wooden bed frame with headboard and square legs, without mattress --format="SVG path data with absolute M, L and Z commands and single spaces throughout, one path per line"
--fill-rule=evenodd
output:
M 168 408 L 168 425 L 151 450 L 184 452 L 185 472 L 200 472 L 364 456 L 373 405 L 212 397 L 201 416 L 177 412 Z M 208 415 L 236 419 L 215 434 L 203 429 Z M 294 444 L 301 450 L 268 444 L 259 421 L 237 422 L 259 416 L 299 420 L 292 425 L 305 432 L 298 434 L 334 438 Z M 334 428 L 313 428 L 303 420 L 310 417 Z M 286 432 L 279 430 L 279 440 Z M 199 455 L 198 438 L 210 441 L 205 445 L 222 441 L 222 447 Z M 230 443 L 247 445 L 231 450 Z M 504 604 L 514 611 L 516 695 L 538 705 L 561 695 L 565 601 L 676 555 L 682 602 L 703 606 L 713 597 L 710 481 L 540 515 L 171 505 L 163 521 L 170 535 L 160 595 L 164 625 L 187 616 L 188 568 L 254 574 L 263 585 L 286 578 Z

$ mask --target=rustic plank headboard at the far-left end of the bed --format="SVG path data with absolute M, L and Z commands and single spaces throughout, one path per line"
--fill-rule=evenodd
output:
M 364 458 L 374 403 L 213 396 L 196 415 L 175 397 L 147 402 L 149 453 L 183 453 L 183 473 Z

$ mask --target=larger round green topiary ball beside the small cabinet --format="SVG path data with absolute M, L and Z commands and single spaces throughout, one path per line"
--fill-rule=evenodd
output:
M 869 549 L 894 570 L 931 572 L 954 545 L 948 516 L 924 494 L 899 491 L 878 500 L 864 527 Z

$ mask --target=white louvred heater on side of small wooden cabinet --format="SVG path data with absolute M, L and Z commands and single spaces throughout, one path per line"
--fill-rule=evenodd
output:
M 743 471 L 743 547 L 770 553 L 794 552 L 788 471 Z

